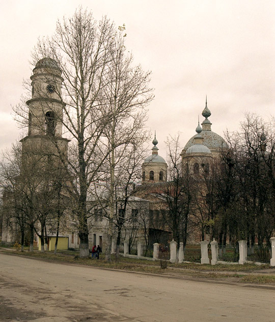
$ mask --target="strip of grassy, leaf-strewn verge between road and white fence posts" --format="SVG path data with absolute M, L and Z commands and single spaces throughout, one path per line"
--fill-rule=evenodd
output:
M 275 267 L 270 265 L 257 266 L 255 264 L 244 265 L 206 265 L 197 263 L 172 264 L 168 262 L 167 269 L 161 269 L 159 262 L 146 261 L 120 257 L 119 261 L 105 262 L 101 259 L 79 258 L 75 252 L 60 252 L 54 255 L 52 252 L 41 253 L 19 252 L 13 249 L 0 248 L 1 253 L 12 256 L 29 257 L 37 260 L 58 262 L 65 265 L 90 266 L 104 270 L 124 271 L 131 273 L 152 274 L 168 278 L 188 279 L 218 283 L 244 283 L 258 287 L 271 287 L 275 289 Z

